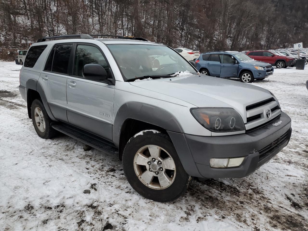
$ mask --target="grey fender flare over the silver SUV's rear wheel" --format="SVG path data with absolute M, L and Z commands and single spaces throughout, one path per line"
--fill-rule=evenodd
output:
M 27 82 L 26 82 L 26 99 L 27 99 L 27 107 L 28 107 L 29 118 L 31 118 L 31 105 L 30 105 L 30 102 L 28 100 L 28 89 L 37 91 L 39 93 L 48 116 L 50 117 L 51 120 L 57 121 L 55 119 L 54 115 L 52 114 L 51 109 L 50 109 L 50 107 L 47 103 L 47 99 L 46 99 L 46 95 L 45 95 L 45 92 L 43 90 L 43 87 L 39 83 L 39 81 L 36 80 L 36 79 L 28 79 Z

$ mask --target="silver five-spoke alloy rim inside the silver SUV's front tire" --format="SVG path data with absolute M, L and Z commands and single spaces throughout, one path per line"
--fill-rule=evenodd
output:
M 157 190 L 168 188 L 176 176 L 171 155 L 156 145 L 143 146 L 136 152 L 134 170 L 144 185 Z

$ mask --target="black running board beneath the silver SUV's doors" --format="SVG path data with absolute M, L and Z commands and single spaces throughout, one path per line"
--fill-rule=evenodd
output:
M 90 132 L 65 123 L 53 123 L 51 124 L 51 127 L 67 136 L 71 136 L 72 138 L 91 146 L 92 148 L 98 149 L 99 151 L 110 154 L 118 154 L 119 150 L 113 143 Z

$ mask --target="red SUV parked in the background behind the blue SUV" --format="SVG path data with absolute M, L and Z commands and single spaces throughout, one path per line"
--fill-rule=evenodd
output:
M 290 56 L 275 55 L 271 51 L 248 51 L 246 53 L 250 58 L 265 63 L 270 63 L 277 68 L 286 68 L 295 63 L 295 59 Z

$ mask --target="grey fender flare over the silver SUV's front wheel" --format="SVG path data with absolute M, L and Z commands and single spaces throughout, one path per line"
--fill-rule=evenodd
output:
M 112 126 L 112 141 L 117 147 L 119 147 L 120 143 L 121 128 L 127 119 L 140 120 L 164 128 L 167 131 L 184 133 L 180 123 L 170 112 L 145 103 L 127 102 L 117 111 Z

